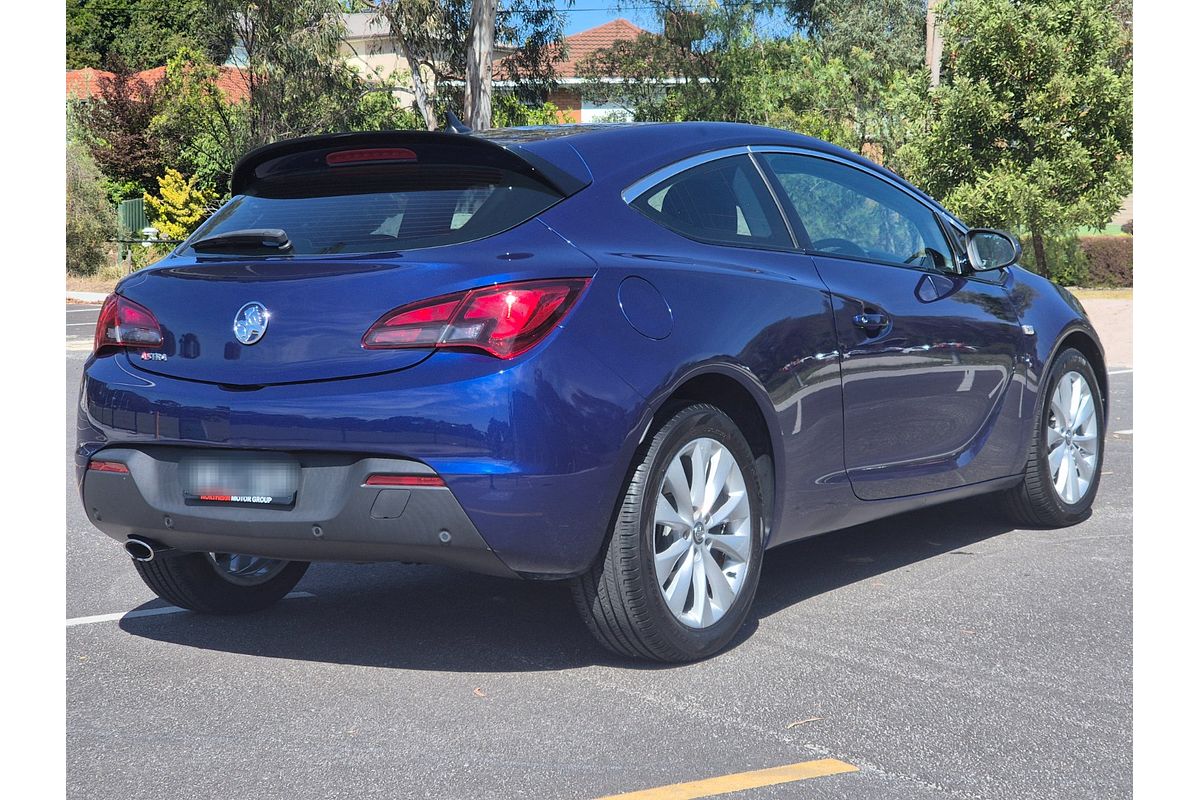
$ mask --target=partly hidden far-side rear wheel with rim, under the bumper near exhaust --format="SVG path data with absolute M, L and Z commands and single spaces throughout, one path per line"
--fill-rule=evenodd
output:
M 236 553 L 160 553 L 134 561 L 151 591 L 204 614 L 241 614 L 272 606 L 300 582 L 307 561 Z

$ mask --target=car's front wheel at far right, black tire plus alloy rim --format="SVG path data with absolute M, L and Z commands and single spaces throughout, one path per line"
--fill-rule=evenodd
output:
M 1004 495 L 1030 528 L 1063 528 L 1091 512 L 1104 464 L 1104 403 L 1084 354 L 1063 350 L 1046 373 L 1025 477 Z

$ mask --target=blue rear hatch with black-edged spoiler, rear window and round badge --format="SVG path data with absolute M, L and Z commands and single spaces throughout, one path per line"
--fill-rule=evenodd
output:
M 523 224 L 580 186 L 544 161 L 462 136 L 343 134 L 264 148 L 236 168 L 235 197 L 170 259 L 121 284 L 163 332 L 162 348 L 127 357 L 146 372 L 230 386 L 412 367 L 432 350 L 362 347 L 386 312 L 590 265 L 540 223 Z M 263 230 L 283 239 L 256 245 L 241 235 Z M 266 324 L 242 343 L 235 324 L 250 303 L 265 309 Z

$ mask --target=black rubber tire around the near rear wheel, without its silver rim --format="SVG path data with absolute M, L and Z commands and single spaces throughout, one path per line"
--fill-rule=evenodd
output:
M 734 457 L 745 481 L 752 525 L 742 589 L 724 616 L 702 628 L 674 618 L 655 581 L 654 506 L 670 461 L 688 443 L 708 437 Z M 618 506 L 613 529 L 595 564 L 571 581 L 575 604 L 592 634 L 608 650 L 634 658 L 689 662 L 730 643 L 745 622 L 762 569 L 762 486 L 750 445 L 720 409 L 696 404 L 673 411 L 642 446 Z

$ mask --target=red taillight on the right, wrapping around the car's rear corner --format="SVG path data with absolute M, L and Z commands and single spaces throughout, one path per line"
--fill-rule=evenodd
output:
M 587 284 L 588 278 L 523 281 L 409 303 L 380 317 L 362 347 L 469 348 L 511 359 L 545 338 Z

